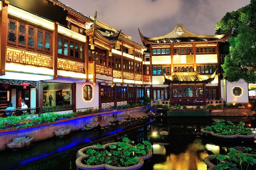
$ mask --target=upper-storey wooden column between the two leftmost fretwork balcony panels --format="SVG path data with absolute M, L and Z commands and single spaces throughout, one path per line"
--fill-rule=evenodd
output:
M 58 22 L 54 23 L 54 31 L 52 33 L 53 55 L 52 55 L 52 68 L 54 71 L 53 79 L 58 78 Z

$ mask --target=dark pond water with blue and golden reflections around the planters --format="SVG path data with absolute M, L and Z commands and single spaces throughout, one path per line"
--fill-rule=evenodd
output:
M 213 119 L 224 117 L 153 117 L 129 124 L 71 132 L 65 137 L 52 137 L 33 142 L 28 148 L 0 152 L 0 170 L 77 170 L 76 152 L 94 144 L 121 141 L 123 137 L 138 143 L 153 144 L 153 156 L 141 170 L 206 170 L 203 159 L 212 153 L 225 153 L 227 148 L 251 147 L 254 142 L 231 144 L 204 137 L 200 129 Z M 234 123 L 243 121 L 256 127 L 254 117 L 225 117 Z M 159 135 L 160 131 L 169 135 Z

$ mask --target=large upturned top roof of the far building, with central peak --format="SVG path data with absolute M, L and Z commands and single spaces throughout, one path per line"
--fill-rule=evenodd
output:
M 222 35 L 197 35 L 187 31 L 182 24 L 177 24 L 173 31 L 160 36 L 148 38 L 142 35 L 139 30 L 141 41 L 146 46 L 147 44 L 177 44 L 177 43 L 193 43 L 193 42 L 225 42 L 231 35 L 232 30 Z

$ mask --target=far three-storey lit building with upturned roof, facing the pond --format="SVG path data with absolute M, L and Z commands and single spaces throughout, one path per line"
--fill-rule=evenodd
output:
M 150 94 L 154 100 L 183 105 L 222 103 L 227 96 L 233 100 L 226 93 L 221 74 L 231 31 L 223 35 L 196 35 L 177 24 L 161 37 L 148 38 L 140 31 L 139 34 L 149 51 L 149 56 L 144 57 L 144 74 L 152 75 Z

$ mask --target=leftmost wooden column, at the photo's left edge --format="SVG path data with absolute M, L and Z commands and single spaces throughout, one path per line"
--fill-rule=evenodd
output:
M 8 1 L 2 1 L 1 20 L 0 20 L 0 75 L 5 75 L 7 30 L 8 30 Z

